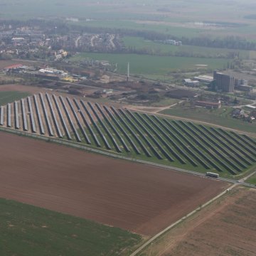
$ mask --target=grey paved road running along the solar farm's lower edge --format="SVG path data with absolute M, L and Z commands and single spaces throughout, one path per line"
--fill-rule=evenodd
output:
M 55 142 L 55 143 L 58 143 L 58 144 L 73 146 L 73 147 L 78 148 L 78 149 L 85 149 L 87 151 L 95 152 L 97 154 L 103 154 L 105 156 L 111 156 L 111 157 L 114 157 L 116 159 L 124 159 L 124 160 L 127 160 L 127 161 L 133 161 L 135 163 L 147 164 L 147 165 L 150 165 L 150 166 L 156 166 L 156 167 L 163 168 L 163 169 L 169 169 L 171 171 L 181 171 L 181 172 L 186 173 L 186 174 L 193 174 L 193 175 L 196 175 L 196 176 L 206 177 L 206 174 L 199 173 L 197 171 L 189 171 L 189 170 L 186 170 L 186 169 L 181 169 L 181 168 L 177 168 L 177 167 L 173 167 L 173 166 L 166 166 L 164 164 L 156 164 L 156 163 L 153 163 L 153 162 L 150 162 L 150 161 L 134 159 L 134 158 L 130 158 L 130 157 L 127 157 L 127 156 L 120 156 L 120 155 L 117 155 L 117 154 L 108 153 L 108 152 L 101 151 L 101 150 L 98 150 L 98 149 L 92 149 L 88 146 L 82 146 L 82 145 L 78 145 L 78 144 L 75 144 L 75 143 L 72 143 L 72 142 L 65 142 L 65 141 L 62 141 L 60 139 L 52 139 L 52 138 L 41 136 L 41 135 L 38 135 L 38 134 L 30 134 L 30 133 L 27 133 L 27 132 L 20 132 L 20 131 L 14 130 L 14 129 L 8 129 L 8 128 L 4 128 L 4 127 L 0 127 L 0 131 L 1 130 L 5 131 L 5 132 L 11 132 L 11 133 L 14 133 L 14 134 L 21 134 L 21 135 L 26 136 L 26 137 L 33 137 L 33 138 L 36 138 L 36 139 L 43 139 L 43 140 L 49 141 L 49 142 Z M 235 183 L 236 182 L 236 181 L 233 181 L 229 178 L 221 178 L 221 177 L 216 178 L 215 180 L 225 181 L 225 182 L 228 182 L 228 183 Z M 245 182 L 243 182 L 243 180 L 242 180 L 242 182 L 240 182 L 240 185 L 250 186 L 250 187 L 255 188 L 255 186 L 253 184 L 245 183 Z

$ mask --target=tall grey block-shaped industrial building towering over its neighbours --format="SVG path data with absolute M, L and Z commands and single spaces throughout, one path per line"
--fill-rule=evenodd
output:
M 213 71 L 213 79 L 215 81 L 215 90 L 220 92 L 233 92 L 235 88 L 235 78 L 232 75 L 224 75 Z

